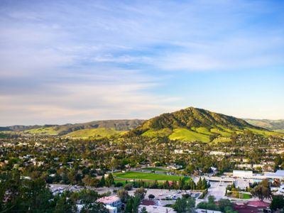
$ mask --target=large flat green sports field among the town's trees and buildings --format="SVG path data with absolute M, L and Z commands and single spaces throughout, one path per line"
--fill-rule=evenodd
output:
M 126 172 L 126 173 L 114 173 L 117 178 L 136 179 L 136 180 L 180 180 L 180 176 L 173 175 L 160 175 L 155 173 L 138 173 L 138 172 Z M 185 178 L 190 180 L 190 178 Z

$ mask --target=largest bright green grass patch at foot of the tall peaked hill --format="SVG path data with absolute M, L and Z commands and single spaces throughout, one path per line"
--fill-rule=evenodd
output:
M 170 140 L 201 141 L 204 143 L 208 143 L 210 141 L 208 135 L 183 128 L 174 129 L 173 133 L 169 136 L 169 138 Z

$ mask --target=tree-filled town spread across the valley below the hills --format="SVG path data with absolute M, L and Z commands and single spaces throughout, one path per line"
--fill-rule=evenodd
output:
M 232 135 L 232 142 L 214 146 L 139 136 L 0 140 L 2 182 L 9 173 L 18 173 L 18 181 L 44 180 L 51 197 L 72 197 L 75 212 L 273 212 L 283 207 L 281 136 Z

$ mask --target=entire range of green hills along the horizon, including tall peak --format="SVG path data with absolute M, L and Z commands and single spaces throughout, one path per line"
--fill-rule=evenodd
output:
M 247 122 L 248 121 L 248 122 Z M 0 127 L 0 137 L 9 135 L 66 136 L 71 138 L 102 138 L 111 136 L 168 137 L 177 141 L 225 142 L 231 134 L 251 131 L 261 136 L 279 134 L 282 121 L 237 119 L 205 109 L 188 107 L 155 116 L 148 120 L 107 120 L 83 124 L 6 126 Z M 271 130 L 271 131 L 270 131 Z M 128 133 L 127 133 L 128 132 Z

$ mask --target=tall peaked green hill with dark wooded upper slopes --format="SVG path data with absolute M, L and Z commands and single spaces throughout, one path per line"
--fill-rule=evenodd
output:
M 210 141 L 229 141 L 232 133 L 241 134 L 244 131 L 251 131 L 261 136 L 278 134 L 253 126 L 233 116 L 194 107 L 156 116 L 143 122 L 129 134 L 151 138 L 167 136 L 171 140 L 208 143 Z

